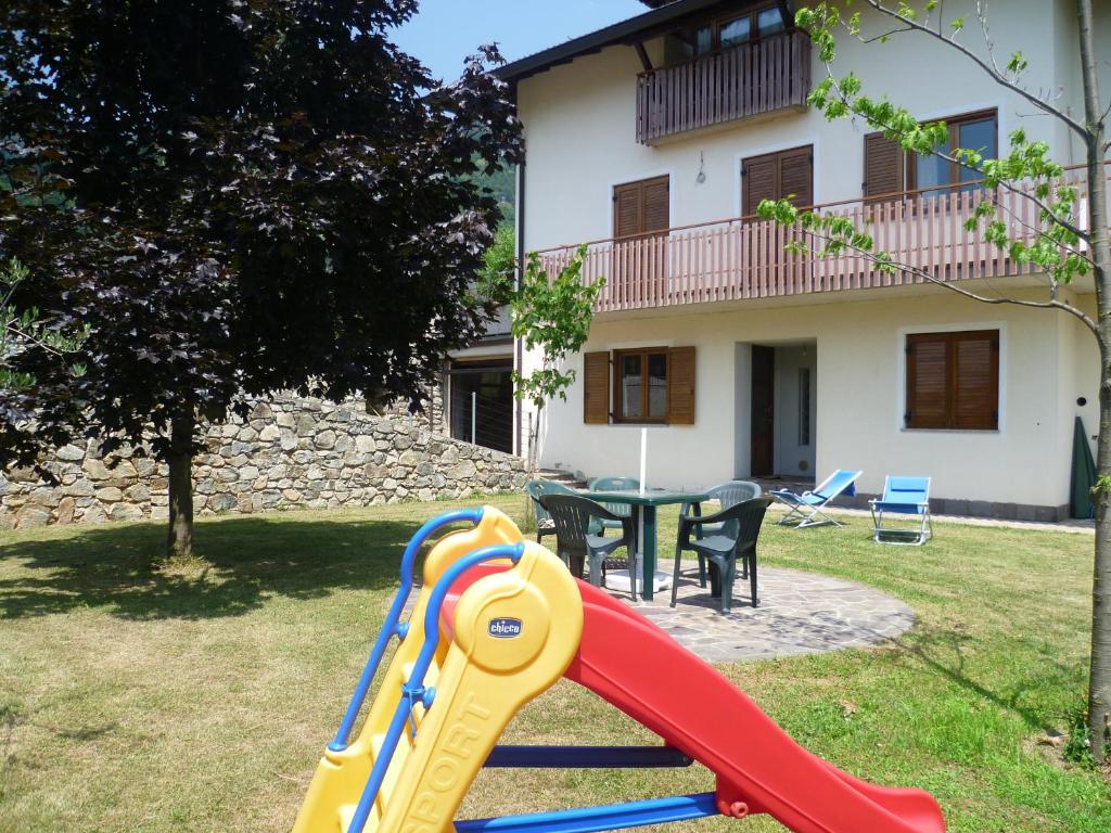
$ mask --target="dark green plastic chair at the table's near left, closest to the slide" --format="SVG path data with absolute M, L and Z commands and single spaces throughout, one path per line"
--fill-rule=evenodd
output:
M 632 519 L 620 519 L 600 503 L 578 494 L 542 494 L 540 504 L 556 525 L 556 552 L 571 570 L 582 578 L 583 565 L 590 562 L 590 583 L 602 586 L 605 579 L 605 559 L 620 546 L 632 548 L 634 532 Z M 592 532 L 595 521 L 618 521 L 620 538 L 602 538 Z M 637 598 L 637 579 L 630 571 L 632 598 Z

